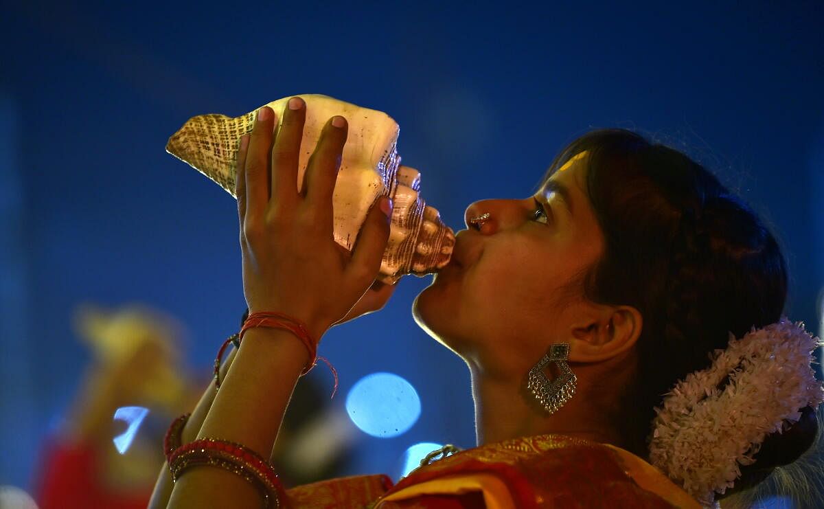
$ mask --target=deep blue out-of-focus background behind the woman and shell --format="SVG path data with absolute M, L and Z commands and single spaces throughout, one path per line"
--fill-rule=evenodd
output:
M 405 164 L 456 229 L 476 199 L 531 194 L 590 128 L 657 137 L 775 226 L 787 312 L 817 329 L 824 4 L 782 3 L 3 2 L 0 484 L 29 486 L 77 390 L 78 303 L 175 315 L 190 366 L 208 372 L 245 307 L 236 209 L 164 145 L 194 114 L 284 96 L 391 114 Z M 389 472 L 417 441 L 474 445 L 466 367 L 410 316 L 427 284 L 405 278 L 384 311 L 321 345 L 341 376 L 334 405 L 373 371 L 421 399 L 409 432 L 358 438 L 349 473 Z

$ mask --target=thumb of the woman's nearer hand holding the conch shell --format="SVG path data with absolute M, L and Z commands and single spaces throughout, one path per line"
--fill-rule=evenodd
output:
M 367 287 L 381 269 L 383 251 L 386 250 L 386 241 L 389 240 L 389 222 L 392 217 L 392 201 L 384 196 L 372 205 L 363 222 L 358 240 L 349 263 L 349 273 L 358 283 Z

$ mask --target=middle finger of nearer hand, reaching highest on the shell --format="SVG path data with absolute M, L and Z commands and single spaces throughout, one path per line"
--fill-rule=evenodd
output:
M 283 124 L 272 149 L 272 202 L 291 208 L 297 200 L 297 161 L 301 152 L 306 102 L 300 97 L 288 100 Z

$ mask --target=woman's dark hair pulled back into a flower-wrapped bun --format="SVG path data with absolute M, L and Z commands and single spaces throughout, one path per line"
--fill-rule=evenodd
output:
M 644 317 L 637 369 L 614 420 L 624 446 L 648 459 L 663 395 L 709 367 L 709 353 L 726 348 L 730 333 L 740 338 L 780 319 L 786 265 L 756 214 L 681 152 L 625 129 L 599 129 L 565 147 L 545 178 L 583 151 L 585 191 L 605 240 L 601 259 L 583 274 L 583 295 L 634 306 Z M 798 424 L 768 436 L 732 491 L 796 460 L 816 431 L 807 409 Z

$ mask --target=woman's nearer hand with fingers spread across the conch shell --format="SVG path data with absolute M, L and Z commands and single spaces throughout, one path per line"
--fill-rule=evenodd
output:
M 293 97 L 288 104 L 276 136 L 274 112 L 261 108 L 237 154 L 243 292 L 250 313 L 293 316 L 320 339 L 344 320 L 375 280 L 389 237 L 391 203 L 381 198 L 368 213 L 352 254 L 337 245 L 332 192 L 346 142 L 346 119 L 336 116 L 326 122 L 298 193 L 306 103 Z

